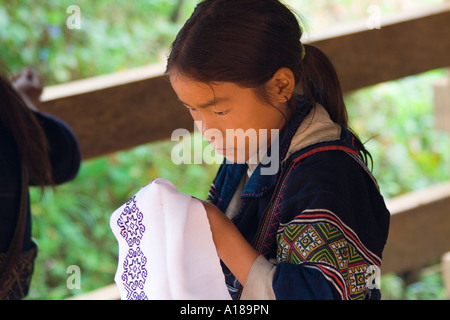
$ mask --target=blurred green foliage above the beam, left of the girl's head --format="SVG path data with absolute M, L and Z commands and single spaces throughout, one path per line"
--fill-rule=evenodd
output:
M 81 29 L 69 29 L 70 5 Z M 0 54 L 12 72 L 39 71 L 48 85 L 164 59 L 192 0 L 0 0 Z

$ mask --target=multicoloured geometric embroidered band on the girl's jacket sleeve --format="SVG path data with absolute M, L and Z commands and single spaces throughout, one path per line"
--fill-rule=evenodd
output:
M 322 212 L 317 216 L 300 215 L 277 233 L 277 262 L 307 262 L 321 270 L 340 292 L 342 299 L 365 299 L 370 277 L 369 265 L 378 265 L 353 235 L 343 229 L 336 216 Z M 330 276 L 331 274 L 331 276 Z

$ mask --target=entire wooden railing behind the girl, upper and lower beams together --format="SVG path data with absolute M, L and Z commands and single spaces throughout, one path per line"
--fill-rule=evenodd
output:
M 363 24 L 308 42 L 331 58 L 350 92 L 449 67 L 449 34 L 450 5 L 444 5 L 386 20 L 380 29 Z M 193 129 L 193 122 L 163 74 L 163 65 L 146 66 L 49 87 L 40 108 L 73 128 L 84 159 L 167 139 L 177 128 Z M 391 199 L 388 207 L 383 272 L 417 269 L 450 250 L 450 183 Z

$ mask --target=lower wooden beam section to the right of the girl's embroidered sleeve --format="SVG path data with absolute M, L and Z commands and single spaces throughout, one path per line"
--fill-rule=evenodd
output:
M 419 269 L 450 250 L 450 183 L 387 202 L 391 212 L 382 273 Z

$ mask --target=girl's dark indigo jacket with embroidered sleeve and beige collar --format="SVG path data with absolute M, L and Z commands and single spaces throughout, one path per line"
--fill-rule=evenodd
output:
M 209 201 L 260 253 L 245 287 L 223 265 L 233 298 L 376 299 L 390 214 L 354 146 L 320 105 L 296 97 L 280 132 L 280 169 L 224 162 Z M 270 152 L 270 150 L 269 150 Z

